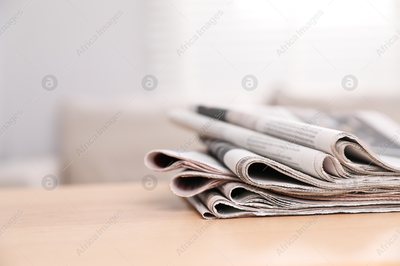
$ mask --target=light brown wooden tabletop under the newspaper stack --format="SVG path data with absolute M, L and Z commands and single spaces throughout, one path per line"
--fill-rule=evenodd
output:
M 154 191 L 136 182 L 3 188 L 0 199 L 0 226 L 23 211 L 0 236 L 0 265 L 400 264 L 400 240 L 377 252 L 400 236 L 400 213 L 322 215 L 302 235 L 296 230 L 312 216 L 218 219 L 199 234 L 209 220 L 172 194 L 168 183 Z M 115 214 L 116 223 L 107 224 Z M 194 234 L 198 238 L 190 240 Z M 299 238 L 278 254 L 294 234 Z M 185 240 L 193 244 L 183 250 Z

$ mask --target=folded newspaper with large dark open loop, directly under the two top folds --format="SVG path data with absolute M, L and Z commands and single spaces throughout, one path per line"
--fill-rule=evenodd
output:
M 204 140 L 210 154 L 234 171 L 245 183 L 294 194 L 332 195 L 350 191 L 400 189 L 399 176 L 372 176 L 321 180 L 284 164 L 259 156 L 223 140 Z M 374 189 L 374 190 L 371 190 Z M 378 189 L 378 190 L 377 190 Z

